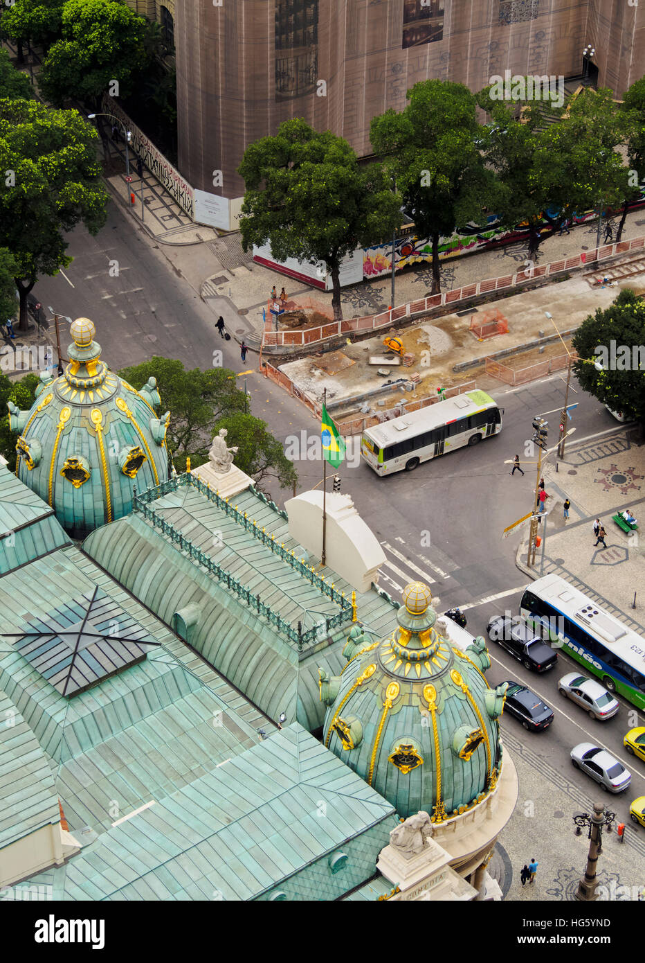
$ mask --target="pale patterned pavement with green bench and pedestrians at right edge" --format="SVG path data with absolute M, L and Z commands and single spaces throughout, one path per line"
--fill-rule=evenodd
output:
M 538 527 L 543 537 L 535 566 L 527 565 L 528 529 L 517 550 L 517 567 L 531 578 L 555 573 L 590 595 L 609 612 L 645 632 L 645 445 L 639 429 L 616 425 L 616 430 L 581 446 L 569 444 L 565 457 L 544 469 L 545 487 L 552 496 L 547 519 Z M 573 442 L 573 439 L 572 439 Z M 556 453 L 554 453 L 556 455 Z M 552 455 L 552 459 L 554 458 Z M 530 501 L 535 481 L 522 479 Z M 562 503 L 571 500 L 569 520 Z M 628 538 L 611 515 L 631 508 L 640 528 Z M 607 532 L 607 549 L 594 547 L 593 521 L 600 518 Z M 546 536 L 544 535 L 546 531 Z M 575 574 L 574 574 L 575 573 Z M 633 609 L 633 601 L 636 608 Z

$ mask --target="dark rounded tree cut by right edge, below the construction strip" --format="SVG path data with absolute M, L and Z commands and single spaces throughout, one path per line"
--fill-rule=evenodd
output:
M 574 363 L 584 391 L 614 411 L 645 424 L 645 300 L 626 288 L 605 310 L 584 319 L 573 337 Z M 597 371 L 589 359 L 599 359 Z

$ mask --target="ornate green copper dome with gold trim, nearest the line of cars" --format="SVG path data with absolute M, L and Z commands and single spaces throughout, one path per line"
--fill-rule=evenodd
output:
M 402 817 L 443 821 L 481 802 L 499 777 L 499 716 L 506 683 L 490 690 L 484 639 L 465 651 L 450 638 L 423 583 L 412 583 L 399 628 L 380 641 L 352 630 L 339 677 L 320 670 L 329 709 L 323 740 Z

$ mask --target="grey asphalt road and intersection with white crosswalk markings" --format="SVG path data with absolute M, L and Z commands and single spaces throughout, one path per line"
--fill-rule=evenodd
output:
M 223 364 L 240 372 L 253 368 L 251 355 L 242 366 L 235 341 L 223 342 L 214 329 L 211 309 L 186 279 L 173 269 L 157 247 L 133 221 L 111 205 L 107 226 L 97 238 L 78 228 L 70 235 L 73 263 L 54 278 L 43 278 L 35 295 L 71 318 L 87 316 L 97 325 L 103 356 L 113 369 L 136 364 L 161 354 L 180 358 L 186 367 L 206 368 L 212 352 L 223 352 Z M 217 310 L 217 305 L 215 305 Z M 223 308 L 222 308 L 223 310 Z M 63 330 L 63 345 L 67 338 Z M 254 414 L 263 417 L 276 437 L 299 446 L 295 458 L 301 490 L 321 479 L 320 455 L 307 457 L 308 443 L 319 438 L 319 426 L 310 413 L 285 392 L 257 373 L 246 375 Z M 573 382 L 576 387 L 575 381 Z M 519 390 L 494 393 L 504 407 L 501 433 L 475 448 L 461 449 L 420 465 L 415 471 L 379 478 L 357 457 L 342 466 L 342 490 L 349 492 L 360 514 L 384 545 L 387 563 L 381 584 L 394 597 L 413 579 L 430 584 L 437 608 L 465 606 L 468 631 L 485 636 L 485 625 L 497 612 L 518 611 L 526 577 L 515 567 L 519 535 L 502 539 L 502 531 L 533 508 L 534 472 L 510 477 L 505 460 L 515 453 L 524 457 L 536 413 L 546 417 L 552 439 L 558 431 L 558 409 L 563 383 L 558 376 L 536 381 Z M 575 441 L 615 428 L 616 423 L 593 398 L 579 392 L 572 425 Z M 350 449 L 350 455 L 356 455 Z M 274 487 L 276 500 L 288 492 Z M 282 498 L 281 498 L 282 496 Z M 558 678 L 577 668 L 561 653 L 558 666 L 535 675 L 501 650 L 489 645 L 491 686 L 514 679 L 529 686 L 555 713 L 551 728 L 525 733 L 521 724 L 505 715 L 503 727 L 531 741 L 552 766 L 580 785 L 589 797 L 600 791 L 582 772 L 573 770 L 570 749 L 587 739 L 597 740 L 633 773 L 632 786 L 615 798 L 616 812 L 627 818 L 629 802 L 645 794 L 645 763 L 634 760 L 622 745 L 625 732 L 644 724 L 628 719 L 623 703 L 607 722 L 591 720 L 583 710 L 558 695 Z M 610 801 L 610 797 L 608 797 Z M 627 820 L 629 821 L 629 820 Z

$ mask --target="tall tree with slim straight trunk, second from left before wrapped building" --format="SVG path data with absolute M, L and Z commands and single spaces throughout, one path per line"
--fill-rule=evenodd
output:
M 478 221 L 490 201 L 492 175 L 479 149 L 483 131 L 475 98 L 462 84 L 428 80 L 408 91 L 401 113 L 372 119 L 370 140 L 404 197 L 419 237 L 433 247 L 433 288 L 441 290 L 439 238 Z

